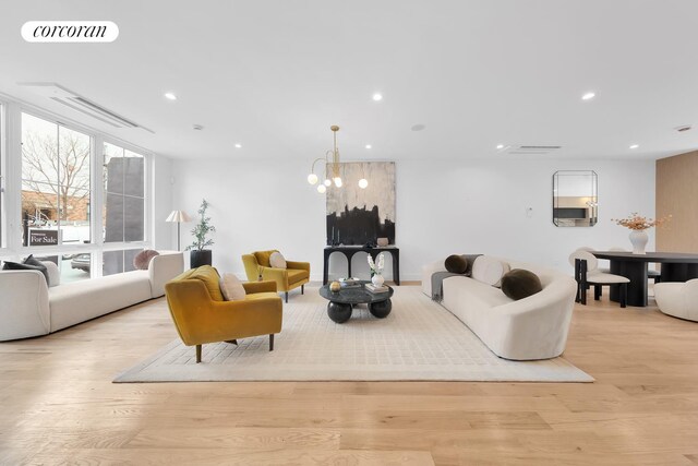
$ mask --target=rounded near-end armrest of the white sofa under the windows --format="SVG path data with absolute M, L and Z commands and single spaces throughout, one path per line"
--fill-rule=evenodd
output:
M 47 335 L 48 286 L 38 271 L 0 272 L 0 342 Z

